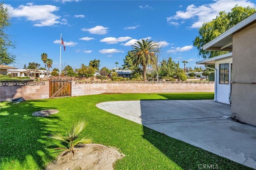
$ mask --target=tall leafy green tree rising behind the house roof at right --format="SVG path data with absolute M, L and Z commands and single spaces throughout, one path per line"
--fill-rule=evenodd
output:
M 256 12 L 255 8 L 250 8 L 249 6 L 241 7 L 236 5 L 234 8 L 232 8 L 231 12 L 226 13 L 225 11 L 222 11 L 214 20 L 204 23 L 198 30 L 199 36 L 197 36 L 193 41 L 194 47 L 197 47 L 199 51 L 198 56 L 203 58 L 211 58 L 227 53 L 225 51 L 205 51 L 202 49 L 202 47 L 254 12 Z

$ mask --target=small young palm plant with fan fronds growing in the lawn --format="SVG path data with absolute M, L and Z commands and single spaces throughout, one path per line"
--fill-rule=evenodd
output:
M 84 144 L 88 144 L 92 142 L 92 138 L 85 136 L 81 140 L 77 140 L 80 137 L 80 132 L 84 130 L 84 128 L 88 125 L 88 122 L 85 119 L 80 119 L 76 124 L 72 125 L 71 132 L 68 133 L 66 136 L 63 136 L 61 134 L 50 134 L 49 137 L 61 140 L 66 143 L 68 143 L 68 146 L 66 148 L 60 147 L 55 148 L 55 150 L 64 149 L 66 152 L 63 154 L 66 154 L 67 152 L 72 152 L 73 155 L 75 154 L 74 147 L 83 146 Z M 77 141 L 75 141 L 77 140 Z

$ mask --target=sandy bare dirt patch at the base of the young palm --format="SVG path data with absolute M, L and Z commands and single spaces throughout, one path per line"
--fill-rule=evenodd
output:
M 86 144 L 75 148 L 75 154 L 60 154 L 57 160 L 48 164 L 46 170 L 114 170 L 116 160 L 124 157 L 116 148 L 98 144 Z

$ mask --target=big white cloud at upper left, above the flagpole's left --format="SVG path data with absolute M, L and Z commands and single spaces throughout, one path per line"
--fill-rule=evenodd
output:
M 12 17 L 24 17 L 28 21 L 34 22 L 34 26 L 53 26 L 54 24 L 67 24 L 65 19 L 60 20 L 60 16 L 53 14 L 59 7 L 53 5 L 34 5 L 27 3 L 18 8 L 8 6 Z

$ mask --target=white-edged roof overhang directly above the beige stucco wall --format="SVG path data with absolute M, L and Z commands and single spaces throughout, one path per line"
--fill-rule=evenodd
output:
M 220 34 L 220 36 L 214 38 L 212 41 L 206 43 L 203 49 L 209 51 L 232 51 L 232 35 L 254 21 L 256 21 L 256 12 Z

